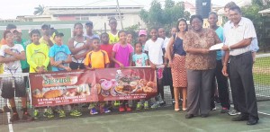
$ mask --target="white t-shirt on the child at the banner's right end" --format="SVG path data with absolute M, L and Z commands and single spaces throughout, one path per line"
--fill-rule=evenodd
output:
M 155 65 L 163 64 L 163 51 L 162 51 L 162 48 L 164 48 L 163 45 L 164 40 L 160 38 L 157 38 L 156 41 L 148 40 L 145 43 L 144 50 L 148 51 L 148 58 Z

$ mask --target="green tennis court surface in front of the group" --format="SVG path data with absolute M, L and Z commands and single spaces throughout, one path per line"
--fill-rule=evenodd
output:
M 230 121 L 233 116 L 220 114 L 218 109 L 208 118 L 184 119 L 184 111 L 153 110 L 16 123 L 12 128 L 14 132 L 269 132 L 270 101 L 258 101 L 258 110 L 260 120 L 255 126 Z M 8 127 L 1 125 L 0 131 L 8 132 Z

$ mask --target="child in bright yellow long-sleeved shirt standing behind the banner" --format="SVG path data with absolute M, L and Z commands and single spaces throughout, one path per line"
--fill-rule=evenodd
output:
M 49 48 L 47 44 L 40 43 L 39 30 L 31 30 L 29 36 L 31 38 L 31 44 L 26 47 L 27 63 L 30 66 L 29 72 L 42 74 L 47 71 L 49 66 Z M 44 110 L 43 116 L 47 118 L 54 117 L 50 108 Z M 38 108 L 35 108 L 33 111 L 33 118 L 39 119 Z

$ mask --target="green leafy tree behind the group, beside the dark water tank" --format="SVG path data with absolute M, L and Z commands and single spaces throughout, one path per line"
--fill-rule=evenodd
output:
M 157 0 L 153 0 L 149 10 L 141 10 L 139 17 L 147 24 L 148 29 L 164 27 L 166 28 L 166 32 L 168 32 L 175 26 L 179 18 L 188 20 L 190 13 L 184 11 L 183 2 L 175 4 L 173 0 L 166 0 L 165 6 L 162 8 L 162 5 Z

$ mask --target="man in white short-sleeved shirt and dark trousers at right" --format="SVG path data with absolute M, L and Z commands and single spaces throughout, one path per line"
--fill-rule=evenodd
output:
M 224 27 L 225 52 L 222 73 L 228 76 L 236 110 L 241 112 L 232 121 L 247 120 L 247 125 L 255 125 L 258 121 L 257 100 L 253 82 L 251 41 L 257 38 L 253 23 L 242 17 L 238 6 L 229 8 L 229 25 Z

